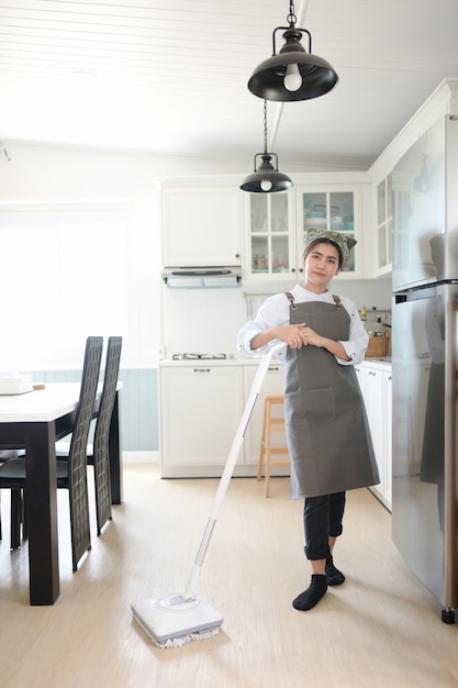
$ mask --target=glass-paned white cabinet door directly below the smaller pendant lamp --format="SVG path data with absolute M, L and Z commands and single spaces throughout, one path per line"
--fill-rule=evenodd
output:
M 288 277 L 295 267 L 294 204 L 289 192 L 249 193 L 247 202 L 248 279 Z

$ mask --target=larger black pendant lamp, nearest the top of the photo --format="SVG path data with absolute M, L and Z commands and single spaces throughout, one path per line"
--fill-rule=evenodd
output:
M 294 2 L 290 2 L 287 21 L 289 26 L 277 26 L 273 30 L 272 57 L 256 67 L 248 81 L 248 89 L 259 98 L 279 101 L 309 100 L 328 93 L 337 84 L 338 76 L 329 63 L 312 55 L 310 32 L 295 26 Z M 278 55 L 277 31 L 284 31 L 286 41 Z M 302 34 L 309 36 L 309 52 L 301 45 Z

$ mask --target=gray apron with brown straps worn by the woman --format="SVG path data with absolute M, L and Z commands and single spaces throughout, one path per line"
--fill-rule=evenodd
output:
M 350 319 L 335 304 L 294 303 L 290 323 L 305 322 L 335 341 L 349 336 Z M 319 497 L 377 485 L 379 474 L 354 366 L 337 363 L 325 348 L 288 347 L 284 414 L 293 498 Z

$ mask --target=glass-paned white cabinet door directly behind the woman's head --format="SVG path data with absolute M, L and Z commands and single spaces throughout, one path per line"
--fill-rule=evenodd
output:
M 358 241 L 351 251 L 350 260 L 344 265 L 342 277 L 360 277 L 359 242 L 359 189 L 357 187 L 298 187 L 298 265 L 302 264 L 306 232 L 313 228 L 333 230 L 348 234 Z M 301 269 L 301 268 L 300 268 Z

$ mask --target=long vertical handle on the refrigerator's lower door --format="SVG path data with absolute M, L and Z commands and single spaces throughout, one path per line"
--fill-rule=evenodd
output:
M 445 519 L 444 519 L 444 601 L 447 608 L 456 607 L 457 589 L 457 310 L 458 301 L 447 298 L 445 328 Z

